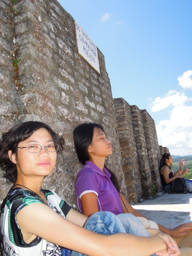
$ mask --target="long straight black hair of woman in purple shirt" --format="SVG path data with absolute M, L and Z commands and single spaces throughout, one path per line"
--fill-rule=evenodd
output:
M 79 159 L 79 162 L 83 165 L 85 165 L 85 161 L 89 161 L 88 148 L 89 148 L 89 145 L 91 145 L 92 143 L 93 132 L 95 128 L 100 129 L 105 133 L 102 125 L 95 124 L 95 123 L 80 124 L 73 131 L 73 140 L 74 140 L 77 157 Z M 116 190 L 118 191 L 118 193 L 120 193 L 120 186 L 115 173 L 109 170 L 106 165 L 104 165 L 104 167 L 111 174 L 110 179 L 113 185 L 115 186 Z

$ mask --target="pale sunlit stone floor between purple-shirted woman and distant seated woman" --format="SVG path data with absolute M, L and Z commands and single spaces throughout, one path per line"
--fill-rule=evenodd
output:
M 132 207 L 167 228 L 192 221 L 192 194 L 189 193 L 165 193 L 139 204 L 132 204 Z

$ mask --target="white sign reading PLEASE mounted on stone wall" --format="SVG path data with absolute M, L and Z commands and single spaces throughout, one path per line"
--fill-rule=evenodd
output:
M 87 35 L 84 29 L 75 21 L 77 52 L 82 56 L 99 74 L 99 60 L 97 46 Z

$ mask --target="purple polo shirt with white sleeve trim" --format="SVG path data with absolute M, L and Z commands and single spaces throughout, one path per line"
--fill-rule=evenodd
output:
M 123 213 L 119 193 L 110 180 L 111 174 L 105 167 L 103 170 L 105 173 L 91 161 L 86 161 L 83 169 L 78 172 L 75 192 L 76 202 L 81 213 L 81 196 L 90 192 L 97 195 L 99 212 L 108 211 L 116 215 Z

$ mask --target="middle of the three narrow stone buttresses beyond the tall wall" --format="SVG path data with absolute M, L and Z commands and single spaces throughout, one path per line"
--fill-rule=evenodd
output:
M 143 190 L 143 196 L 148 197 L 151 195 L 151 172 L 148 161 L 148 151 L 145 141 L 145 134 L 142 124 L 142 116 L 140 109 L 133 105 L 131 108 L 132 124 L 134 138 L 137 148 L 137 156 L 139 163 L 139 171 L 141 175 L 141 186 Z

